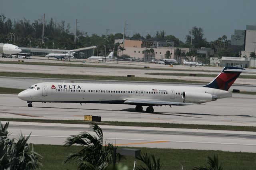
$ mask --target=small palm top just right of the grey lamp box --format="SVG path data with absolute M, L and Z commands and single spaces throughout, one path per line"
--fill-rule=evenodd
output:
M 135 170 L 160 170 L 162 167 L 162 164 L 160 164 L 160 158 L 156 160 L 154 155 L 148 155 L 145 153 L 136 158 L 141 160 L 146 165 L 146 167 L 140 165 L 136 167 Z

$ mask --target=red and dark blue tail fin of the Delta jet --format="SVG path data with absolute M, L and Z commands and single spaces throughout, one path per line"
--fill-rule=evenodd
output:
M 203 87 L 228 91 L 242 71 L 245 71 L 245 69 L 240 67 L 225 67 L 211 83 Z

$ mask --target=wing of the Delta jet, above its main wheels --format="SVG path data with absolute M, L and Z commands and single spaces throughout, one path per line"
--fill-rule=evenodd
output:
M 152 104 L 156 106 L 161 105 L 174 105 L 174 106 L 182 106 L 182 105 L 196 105 L 196 103 L 182 103 L 182 102 L 172 102 L 172 101 L 160 101 L 154 99 L 126 99 L 124 103 L 134 103 L 134 104 Z

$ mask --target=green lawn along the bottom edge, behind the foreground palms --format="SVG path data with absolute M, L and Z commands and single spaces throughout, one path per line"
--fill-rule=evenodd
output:
M 143 153 L 146 152 L 154 155 L 156 158 L 160 158 L 160 162 L 163 163 L 162 170 L 180 170 L 182 165 L 184 170 L 192 170 L 195 166 L 207 164 L 208 156 L 212 157 L 214 154 L 218 155 L 224 170 L 254 170 L 256 165 L 256 153 L 118 146 L 118 149 L 121 148 L 139 149 Z M 81 146 L 67 148 L 62 145 L 34 144 L 34 151 L 43 156 L 41 170 L 77 170 L 77 164 L 75 162 L 67 164 L 63 164 L 63 162 L 69 153 L 76 153 L 81 149 Z M 120 163 L 127 165 L 128 169 L 132 170 L 135 160 L 132 156 L 126 156 L 126 159 Z M 139 165 L 143 164 L 136 160 L 136 167 Z

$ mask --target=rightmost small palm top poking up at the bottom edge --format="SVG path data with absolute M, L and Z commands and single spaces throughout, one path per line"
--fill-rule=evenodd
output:
M 214 155 L 213 158 L 208 156 L 208 166 L 196 166 L 193 170 L 222 170 L 222 164 L 218 160 L 218 155 Z

